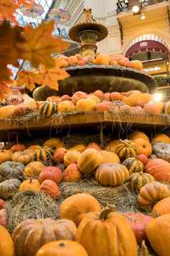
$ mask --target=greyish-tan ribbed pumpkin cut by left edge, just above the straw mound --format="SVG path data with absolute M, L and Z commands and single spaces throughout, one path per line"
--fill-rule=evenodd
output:
M 13 194 L 15 194 L 21 181 L 19 179 L 6 179 L 0 183 L 0 197 L 1 199 L 9 199 Z

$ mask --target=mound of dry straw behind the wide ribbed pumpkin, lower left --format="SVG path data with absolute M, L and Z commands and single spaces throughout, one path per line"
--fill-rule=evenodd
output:
M 57 219 L 59 207 L 43 192 L 19 192 L 6 204 L 7 229 L 12 232 L 25 219 Z

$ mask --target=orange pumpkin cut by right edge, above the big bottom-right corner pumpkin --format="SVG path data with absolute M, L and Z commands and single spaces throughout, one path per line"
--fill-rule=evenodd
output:
M 154 218 L 164 214 L 170 214 L 170 196 L 156 203 L 151 211 L 151 216 Z

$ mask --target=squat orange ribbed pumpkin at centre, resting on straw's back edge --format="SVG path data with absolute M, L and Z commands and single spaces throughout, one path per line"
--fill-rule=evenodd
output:
M 95 179 L 104 186 L 119 186 L 129 179 L 129 171 L 120 163 L 104 163 L 96 169 Z

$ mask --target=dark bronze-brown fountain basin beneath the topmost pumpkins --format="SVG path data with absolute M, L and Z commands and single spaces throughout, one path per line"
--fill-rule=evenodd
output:
M 129 67 L 85 65 L 68 67 L 66 71 L 70 77 L 59 81 L 59 91 L 40 86 L 34 90 L 34 99 L 46 100 L 51 95 L 73 95 L 78 90 L 86 93 L 93 93 L 95 90 L 102 90 L 104 93 L 129 90 L 153 93 L 157 85 L 154 77 Z

